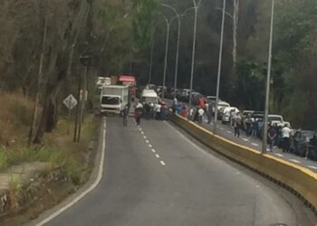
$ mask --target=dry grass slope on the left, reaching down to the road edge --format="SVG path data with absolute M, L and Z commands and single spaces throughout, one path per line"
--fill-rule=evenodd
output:
M 12 217 L 1 221 L 1 225 L 22 225 L 22 222 L 29 221 L 43 210 L 61 202 L 69 193 L 77 190 L 78 185 L 88 180 L 87 175 L 91 172 L 89 143 L 96 134 L 98 124 L 93 115 L 86 113 L 82 124 L 81 142 L 73 143 L 73 121 L 68 119 L 65 112 L 65 116 L 59 117 L 53 133 L 44 134 L 41 146 L 27 146 L 33 101 L 21 94 L 0 92 L 0 106 L 0 173 L 10 174 L 8 169 L 12 165 L 44 162 L 49 163 L 51 167 L 43 173 L 50 173 L 51 170 L 59 168 L 62 169 L 62 176 L 68 178 L 42 184 L 36 194 L 39 200 L 24 203 L 25 212 L 15 212 Z M 74 114 L 74 111 L 72 113 Z M 9 187 L 12 202 L 17 203 L 16 198 L 23 186 L 14 174 Z

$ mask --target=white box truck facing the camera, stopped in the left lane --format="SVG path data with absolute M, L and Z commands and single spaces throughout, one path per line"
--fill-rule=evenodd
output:
M 120 114 L 129 102 L 128 86 L 103 86 L 101 89 L 101 113 Z

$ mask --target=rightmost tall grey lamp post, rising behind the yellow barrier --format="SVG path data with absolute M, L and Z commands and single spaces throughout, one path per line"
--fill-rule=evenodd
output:
M 267 118 L 269 114 L 269 101 L 270 101 L 270 82 L 271 82 L 271 68 L 272 68 L 272 44 L 273 44 L 273 25 L 274 25 L 274 0 L 272 0 L 271 11 L 271 26 L 270 26 L 270 43 L 269 43 L 269 56 L 267 65 L 267 77 L 266 77 L 266 93 L 265 93 L 265 109 L 264 109 L 264 130 L 263 130 L 263 143 L 262 154 L 265 154 L 267 147 Z

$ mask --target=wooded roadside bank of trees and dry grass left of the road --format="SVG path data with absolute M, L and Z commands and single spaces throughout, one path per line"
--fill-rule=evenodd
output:
M 0 1 L 0 174 L 12 175 L 9 196 L 19 205 L 25 187 L 10 173 L 14 167 L 46 163 L 50 172 L 62 172 L 60 181 L 44 183 L 38 200 L 24 203 L 32 205 L 26 217 L 20 218 L 19 206 L 16 221 L 6 215 L 2 221 L 1 212 L 1 225 L 21 225 L 87 181 L 91 140 L 100 125 L 93 114 L 95 80 L 123 73 L 133 53 L 149 45 L 155 5 L 152 0 Z M 73 142 L 82 106 L 69 118 L 62 101 L 72 94 L 80 102 L 82 89 L 88 89 L 82 136 Z

